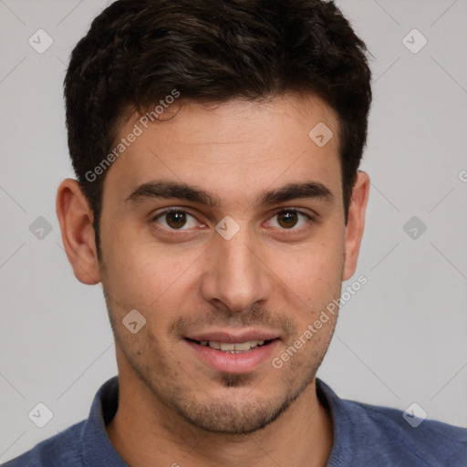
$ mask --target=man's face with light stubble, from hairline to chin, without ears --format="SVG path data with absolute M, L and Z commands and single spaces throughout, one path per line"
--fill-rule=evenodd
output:
M 334 132 L 323 147 L 318 122 Z M 315 379 L 335 327 L 281 358 L 345 275 L 336 115 L 287 96 L 185 104 L 141 129 L 106 174 L 100 223 L 119 368 L 194 426 L 258 430 Z

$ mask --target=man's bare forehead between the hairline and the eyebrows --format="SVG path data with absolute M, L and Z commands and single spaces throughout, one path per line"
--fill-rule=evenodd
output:
M 340 193 L 338 119 L 321 99 L 182 102 L 153 123 L 141 117 L 134 114 L 119 129 L 116 145 L 138 136 L 107 173 L 104 192 L 112 196 L 124 198 L 158 179 L 202 187 L 221 201 L 310 179 Z

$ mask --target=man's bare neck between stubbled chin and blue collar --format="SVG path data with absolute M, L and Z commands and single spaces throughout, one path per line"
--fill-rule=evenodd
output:
M 327 464 L 333 440 L 332 420 L 317 399 L 316 380 L 264 429 L 232 435 L 193 427 L 161 405 L 140 379 L 120 375 L 119 409 L 107 431 L 131 467 L 321 467 Z

